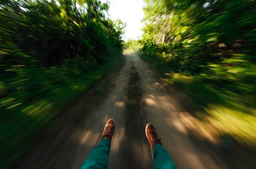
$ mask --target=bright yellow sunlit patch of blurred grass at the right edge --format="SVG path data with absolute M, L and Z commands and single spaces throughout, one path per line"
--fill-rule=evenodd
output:
M 256 117 L 254 115 L 244 114 L 222 105 L 209 106 L 205 111 L 210 115 L 205 117 L 205 120 L 221 131 L 220 134 L 232 136 L 235 142 L 254 148 L 256 144 Z

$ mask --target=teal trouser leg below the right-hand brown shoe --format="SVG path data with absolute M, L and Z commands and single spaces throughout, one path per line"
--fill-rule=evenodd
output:
M 160 144 L 156 144 L 153 150 L 154 169 L 176 169 L 169 153 Z

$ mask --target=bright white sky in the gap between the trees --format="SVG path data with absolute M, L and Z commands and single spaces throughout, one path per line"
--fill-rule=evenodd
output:
M 105 2 L 105 1 L 102 1 Z M 124 40 L 139 39 L 142 35 L 143 0 L 109 0 L 109 14 L 112 20 L 117 18 L 126 23 Z

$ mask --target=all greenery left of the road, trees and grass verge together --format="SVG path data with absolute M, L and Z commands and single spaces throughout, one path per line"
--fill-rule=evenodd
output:
M 124 24 L 98 0 L 0 2 L 0 157 L 9 168 L 120 56 Z

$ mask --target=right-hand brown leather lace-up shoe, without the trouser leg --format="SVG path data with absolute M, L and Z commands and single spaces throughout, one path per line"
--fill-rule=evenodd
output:
M 145 132 L 146 132 L 147 140 L 149 140 L 149 144 L 150 144 L 150 147 L 151 147 L 151 154 L 152 154 L 152 157 L 153 157 L 154 146 L 156 144 L 160 144 L 160 145 L 163 146 L 163 144 L 161 143 L 161 139 L 157 135 L 155 127 L 151 123 L 148 123 L 146 125 Z M 153 159 L 154 159 L 154 157 L 153 157 Z

